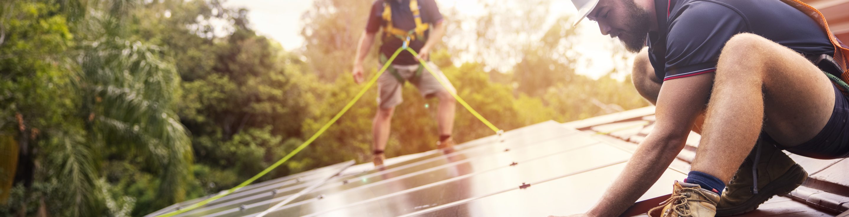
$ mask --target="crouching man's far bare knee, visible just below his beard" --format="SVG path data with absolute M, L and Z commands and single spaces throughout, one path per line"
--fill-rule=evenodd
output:
M 649 50 L 643 49 L 634 58 L 631 80 L 637 92 L 649 103 L 657 103 L 657 95 L 661 92 L 661 81 L 655 75 L 655 69 L 649 62 Z

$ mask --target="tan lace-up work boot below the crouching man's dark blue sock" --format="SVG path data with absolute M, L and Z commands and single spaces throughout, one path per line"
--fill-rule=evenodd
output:
M 649 217 L 713 217 L 717 214 L 719 194 L 696 184 L 675 181 L 672 197 L 661 206 L 649 209 Z

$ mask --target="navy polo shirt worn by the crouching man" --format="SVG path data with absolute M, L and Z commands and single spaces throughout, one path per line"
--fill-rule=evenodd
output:
M 661 81 L 717 70 L 725 42 L 742 32 L 803 55 L 834 53 L 814 19 L 780 0 L 655 0 L 655 10 L 662 34 L 649 32 L 649 60 Z

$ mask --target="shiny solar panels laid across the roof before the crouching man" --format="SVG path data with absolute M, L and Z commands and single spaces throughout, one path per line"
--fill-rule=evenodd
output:
M 595 136 L 548 121 L 464 142 L 453 153 L 435 150 L 401 157 L 401 162 L 390 159 L 380 170 L 371 163 L 355 165 L 267 216 L 579 213 L 601 196 L 631 156 Z M 340 164 L 256 183 L 180 216 L 256 216 L 313 181 L 323 181 L 320 177 L 334 174 L 333 169 L 340 170 Z M 644 198 L 668 193 L 672 181 L 684 176 L 667 170 Z

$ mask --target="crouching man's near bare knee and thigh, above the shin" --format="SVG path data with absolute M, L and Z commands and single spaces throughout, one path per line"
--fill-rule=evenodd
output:
M 816 136 L 834 110 L 834 86 L 810 60 L 762 36 L 741 33 L 722 47 L 712 97 L 739 96 L 739 90 L 751 87 L 762 93 L 764 131 L 783 145 Z

